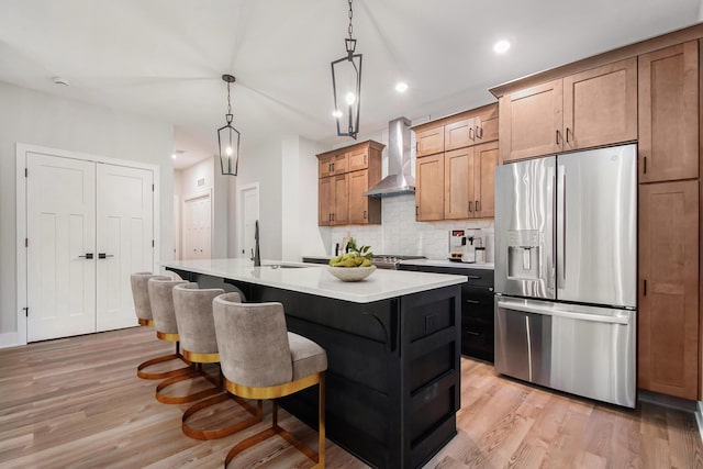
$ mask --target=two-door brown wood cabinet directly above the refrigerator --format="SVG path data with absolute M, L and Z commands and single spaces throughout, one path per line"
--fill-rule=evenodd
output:
M 592 68 L 500 99 L 503 161 L 637 138 L 637 59 Z

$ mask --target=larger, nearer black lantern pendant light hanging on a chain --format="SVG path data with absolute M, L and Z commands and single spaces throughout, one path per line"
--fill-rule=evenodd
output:
M 356 40 L 352 37 L 354 27 L 352 0 L 349 2 L 349 37 L 345 38 L 347 55 L 332 63 L 332 90 L 334 92 L 334 118 L 337 135 L 356 138 L 359 133 L 359 110 L 361 108 L 361 54 L 355 54 Z M 345 132 L 342 129 L 345 127 Z

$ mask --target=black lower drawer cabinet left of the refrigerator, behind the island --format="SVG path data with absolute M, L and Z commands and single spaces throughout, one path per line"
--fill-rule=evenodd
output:
M 399 269 L 466 276 L 468 282 L 461 284 L 461 354 L 493 362 L 493 270 L 404 264 Z

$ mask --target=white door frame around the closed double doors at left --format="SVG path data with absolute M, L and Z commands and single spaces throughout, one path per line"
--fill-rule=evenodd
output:
M 114 166 L 126 166 L 130 168 L 147 169 L 154 172 L 154 250 L 153 250 L 153 271 L 158 271 L 160 264 L 160 216 L 159 205 L 160 199 L 160 178 L 159 167 L 156 165 L 145 164 L 141 161 L 132 161 L 126 159 L 109 158 L 105 156 L 92 155 L 88 153 L 70 152 L 65 149 L 49 148 L 45 146 L 16 143 L 15 146 L 15 183 L 16 183 L 16 332 L 0 334 L 0 348 L 13 347 L 16 345 L 26 345 L 26 312 L 25 306 L 27 304 L 26 288 L 27 288 L 27 259 L 26 259 L 26 246 L 24 239 L 27 237 L 26 233 L 26 177 L 24 176 L 24 169 L 26 168 L 26 154 L 38 153 L 46 156 L 55 156 L 60 158 L 79 159 L 83 161 L 93 161 L 98 164 L 110 164 Z

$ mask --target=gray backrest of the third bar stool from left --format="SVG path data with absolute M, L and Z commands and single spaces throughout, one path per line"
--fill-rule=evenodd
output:
M 181 283 L 174 288 L 174 311 L 183 350 L 194 354 L 217 353 L 212 300 L 222 293 L 224 290 L 221 288 L 199 289 L 198 283 Z

